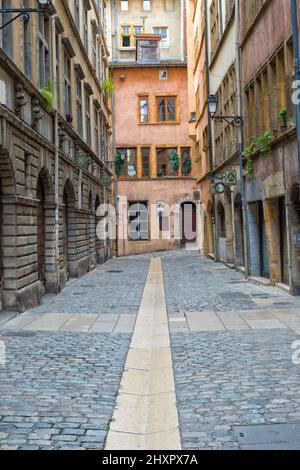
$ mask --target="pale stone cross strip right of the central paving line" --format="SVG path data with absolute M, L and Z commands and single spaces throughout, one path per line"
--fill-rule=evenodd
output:
M 300 309 L 188 312 L 169 315 L 172 333 L 290 329 L 300 334 Z

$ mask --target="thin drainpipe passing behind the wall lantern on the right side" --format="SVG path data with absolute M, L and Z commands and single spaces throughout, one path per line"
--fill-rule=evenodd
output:
M 205 22 L 205 75 L 206 75 L 206 88 L 207 88 L 207 98 L 210 95 L 210 75 L 209 75 L 209 50 L 208 50 L 208 6 L 207 0 L 204 0 L 204 22 Z M 210 149 L 209 152 L 209 166 L 210 171 L 213 171 L 214 161 L 213 161 L 213 145 L 212 145 L 212 119 L 208 113 L 208 146 Z M 214 249 L 214 261 L 215 263 L 218 260 L 218 245 L 217 245 L 217 231 L 216 231 L 216 197 L 212 194 L 212 206 L 213 206 L 213 249 Z

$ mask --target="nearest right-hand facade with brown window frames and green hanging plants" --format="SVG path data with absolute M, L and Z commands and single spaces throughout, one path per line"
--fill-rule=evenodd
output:
M 241 48 L 245 150 L 253 167 L 246 177 L 250 270 L 296 294 L 300 201 L 290 2 L 242 1 Z

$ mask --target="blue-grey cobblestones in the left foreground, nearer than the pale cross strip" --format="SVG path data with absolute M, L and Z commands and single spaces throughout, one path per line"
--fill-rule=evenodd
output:
M 0 449 L 102 449 L 130 337 L 2 332 Z

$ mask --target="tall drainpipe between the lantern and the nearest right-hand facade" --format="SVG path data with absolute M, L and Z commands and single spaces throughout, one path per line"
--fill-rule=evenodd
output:
M 237 94 L 237 114 L 243 116 L 243 92 L 241 81 L 241 47 L 240 47 L 240 31 L 241 31 L 241 18 L 240 18 L 240 0 L 235 0 L 235 23 L 236 23 L 236 94 Z M 244 176 L 244 122 L 238 128 L 238 145 L 240 156 L 240 186 L 242 198 L 242 212 L 244 220 L 244 255 L 245 255 L 245 275 L 246 278 L 251 274 L 250 266 L 250 240 L 249 240 L 249 217 L 248 217 L 248 204 L 245 191 L 245 176 Z

